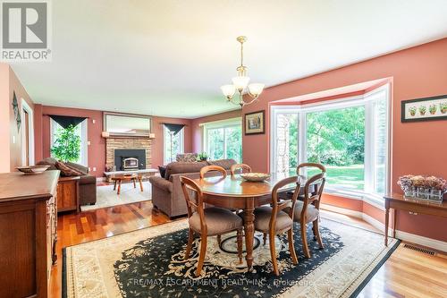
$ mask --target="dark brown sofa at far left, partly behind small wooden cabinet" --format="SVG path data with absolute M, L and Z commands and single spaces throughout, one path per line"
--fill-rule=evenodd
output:
M 55 158 L 45 158 L 38 162 L 37 165 L 50 166 L 48 170 L 57 170 Z M 83 175 L 80 176 L 80 205 L 95 205 L 97 203 L 97 177 L 89 175 L 89 168 L 79 164 L 66 162 L 66 166 L 70 166 Z

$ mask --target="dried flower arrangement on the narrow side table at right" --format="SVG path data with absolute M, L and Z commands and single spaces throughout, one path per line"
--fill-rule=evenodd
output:
M 399 177 L 398 184 L 401 186 L 402 191 L 405 192 L 405 195 L 409 196 L 419 197 L 418 195 L 414 195 L 414 192 L 416 190 L 425 190 L 425 196 L 428 196 L 428 193 L 432 193 L 433 195 L 439 196 L 442 200 L 443 193 L 447 192 L 447 182 L 445 179 L 435 176 L 403 175 Z M 421 193 L 419 192 L 419 194 Z M 425 196 L 422 197 L 426 199 Z

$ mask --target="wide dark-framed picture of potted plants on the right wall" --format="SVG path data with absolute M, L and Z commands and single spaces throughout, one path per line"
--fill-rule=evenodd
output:
M 401 122 L 447 119 L 447 95 L 402 100 Z

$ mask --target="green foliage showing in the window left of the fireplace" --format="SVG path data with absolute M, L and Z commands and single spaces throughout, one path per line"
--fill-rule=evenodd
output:
M 64 162 L 76 162 L 80 158 L 80 136 L 76 126 L 60 128 L 56 132 L 55 145 L 51 148 L 53 156 Z

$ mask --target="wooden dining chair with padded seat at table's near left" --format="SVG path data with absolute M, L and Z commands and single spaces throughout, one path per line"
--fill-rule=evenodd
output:
M 237 232 L 238 257 L 242 263 L 242 228 L 243 222 L 240 217 L 228 209 L 218 207 L 204 208 L 203 194 L 197 183 L 188 177 L 181 176 L 181 189 L 188 208 L 188 221 L 190 229 L 188 234 L 188 245 L 185 252 L 185 260 L 190 258 L 190 251 L 194 234 L 200 235 L 200 251 L 198 254 L 198 266 L 196 276 L 200 275 L 207 252 L 207 237 Z M 195 196 L 190 196 L 195 192 Z

